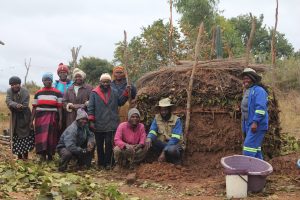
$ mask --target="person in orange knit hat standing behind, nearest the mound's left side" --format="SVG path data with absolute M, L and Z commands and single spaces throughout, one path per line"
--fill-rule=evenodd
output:
M 113 69 L 113 81 L 111 82 L 111 87 L 118 91 L 119 96 L 121 96 L 127 87 L 126 81 L 126 71 L 122 66 L 114 67 Z M 130 107 L 134 107 L 136 88 L 131 85 L 131 102 L 126 102 L 123 106 L 119 107 L 119 117 L 121 122 L 127 122 L 127 114 Z

